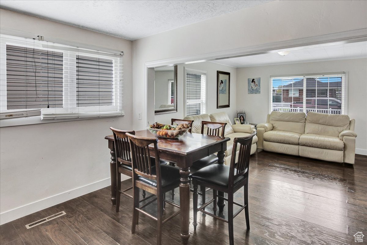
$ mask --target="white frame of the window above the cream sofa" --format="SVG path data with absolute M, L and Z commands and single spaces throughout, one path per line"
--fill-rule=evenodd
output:
M 341 114 L 340 115 L 348 115 L 348 72 L 324 72 L 324 73 L 307 73 L 307 74 L 294 74 L 294 75 L 274 75 L 269 77 L 269 102 L 268 102 L 268 112 L 269 114 L 272 112 L 272 102 L 273 102 L 273 94 L 272 94 L 272 79 L 292 79 L 292 78 L 302 78 L 303 77 L 303 110 L 306 109 L 306 79 L 307 78 L 315 78 L 315 77 L 333 77 L 333 76 L 341 76 L 342 77 L 342 106 L 341 106 Z M 344 93 L 344 97 L 343 97 Z M 291 97 L 291 96 L 290 96 Z

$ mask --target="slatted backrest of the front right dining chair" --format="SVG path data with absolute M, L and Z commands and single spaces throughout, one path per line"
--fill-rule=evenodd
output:
M 248 136 L 241 137 L 241 138 L 235 138 L 233 140 L 233 148 L 232 148 L 230 170 L 229 170 L 229 181 L 228 181 L 229 184 L 232 183 L 233 185 L 233 182 L 237 177 L 240 177 L 243 174 L 248 174 L 252 138 L 255 135 L 256 135 L 256 132 L 253 132 Z M 237 147 L 239 147 L 238 160 L 237 162 L 235 162 L 236 155 L 237 155 Z

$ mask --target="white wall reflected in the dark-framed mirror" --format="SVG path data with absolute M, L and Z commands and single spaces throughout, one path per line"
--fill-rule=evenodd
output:
M 168 80 L 174 78 L 174 71 L 155 71 L 154 104 L 158 109 L 160 105 L 168 104 Z

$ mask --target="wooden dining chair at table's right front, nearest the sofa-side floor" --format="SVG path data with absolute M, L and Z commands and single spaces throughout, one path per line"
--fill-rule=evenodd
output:
M 223 164 L 213 164 L 207 167 L 204 167 L 198 170 L 196 173 L 192 174 L 192 182 L 194 187 L 194 194 L 193 194 L 193 208 L 194 208 L 194 221 L 193 226 L 194 230 L 196 230 L 197 226 L 197 211 L 201 211 L 210 215 L 216 219 L 225 221 L 228 223 L 228 230 L 229 230 L 229 244 L 233 245 L 234 238 L 233 238 L 233 218 L 236 217 L 243 209 L 245 210 L 245 217 L 246 217 L 246 227 L 247 230 L 250 229 L 250 220 L 248 217 L 248 169 L 250 163 L 250 153 L 251 153 L 251 144 L 252 138 L 256 135 L 256 132 L 252 134 L 241 137 L 235 138 L 233 141 L 233 148 L 232 148 L 232 156 L 230 161 L 230 166 L 226 166 Z M 238 161 L 236 161 L 236 153 L 237 153 L 237 145 L 239 145 L 239 152 L 238 152 Z M 198 185 L 203 185 L 205 187 L 209 187 L 213 189 L 213 199 L 209 202 L 204 203 L 197 207 L 197 187 Z M 244 205 L 233 201 L 233 195 L 236 191 L 240 188 L 244 188 Z M 228 220 L 223 219 L 216 215 L 217 213 L 217 195 L 218 192 L 226 192 L 228 194 L 228 198 L 223 198 L 224 200 L 228 201 Z M 208 206 L 211 202 L 213 203 L 213 211 L 214 214 L 205 211 L 205 207 Z M 233 215 L 233 205 L 240 206 L 240 209 Z

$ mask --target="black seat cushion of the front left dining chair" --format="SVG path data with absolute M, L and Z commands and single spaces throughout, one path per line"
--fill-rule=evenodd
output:
M 178 167 L 170 166 L 162 164 L 161 166 L 161 181 L 162 181 L 162 187 L 167 186 L 175 186 L 179 185 L 180 183 L 180 170 Z M 152 174 L 156 174 L 156 168 L 152 169 Z M 157 181 L 156 180 L 150 180 L 147 178 L 144 178 L 142 176 L 138 176 L 138 180 L 151 185 L 153 187 L 157 187 Z

